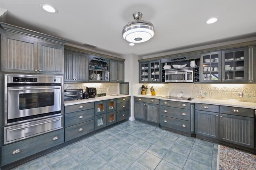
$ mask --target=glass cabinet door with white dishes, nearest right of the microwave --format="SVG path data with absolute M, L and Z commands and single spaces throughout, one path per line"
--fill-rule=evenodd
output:
M 221 51 L 201 54 L 200 66 L 200 82 L 221 82 Z

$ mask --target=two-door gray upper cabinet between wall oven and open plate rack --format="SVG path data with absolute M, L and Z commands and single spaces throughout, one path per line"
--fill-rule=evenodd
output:
M 88 61 L 86 54 L 64 51 L 64 82 L 88 82 Z

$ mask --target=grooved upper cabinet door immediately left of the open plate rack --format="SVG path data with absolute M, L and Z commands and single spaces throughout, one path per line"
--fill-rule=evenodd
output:
M 87 56 L 83 53 L 76 53 L 76 82 L 88 82 Z

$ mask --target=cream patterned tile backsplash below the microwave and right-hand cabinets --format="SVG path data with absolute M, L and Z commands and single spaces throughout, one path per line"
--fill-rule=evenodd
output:
M 171 96 L 183 93 L 186 97 L 197 98 L 199 90 L 202 90 L 202 96 L 210 99 L 239 99 L 242 102 L 256 102 L 256 84 L 193 84 L 193 83 L 169 83 L 169 84 L 144 84 L 148 86 L 147 94 L 150 94 L 149 88 L 154 87 L 156 95 Z M 239 98 L 238 92 L 243 92 L 242 98 Z

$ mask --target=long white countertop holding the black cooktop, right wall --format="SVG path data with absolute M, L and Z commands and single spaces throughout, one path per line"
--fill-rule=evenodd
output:
M 200 104 L 213 104 L 213 105 L 221 105 L 221 106 L 235 106 L 235 107 L 244 107 L 249 109 L 256 109 L 255 102 L 239 102 L 239 101 L 230 101 L 230 100 L 216 100 L 216 99 L 208 99 L 208 98 L 194 98 L 192 100 L 176 100 L 176 99 L 165 99 L 162 98 L 164 96 L 156 95 L 134 95 L 135 97 L 141 98 L 156 98 L 161 100 L 170 100 L 170 101 L 178 101 L 178 102 L 187 102 L 187 103 L 200 103 Z

